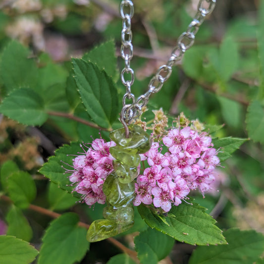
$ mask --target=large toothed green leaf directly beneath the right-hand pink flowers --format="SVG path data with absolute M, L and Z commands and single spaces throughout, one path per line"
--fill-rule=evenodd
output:
M 143 205 L 138 207 L 145 222 L 178 241 L 191 245 L 226 244 L 221 230 L 214 225 L 215 220 L 205 212 L 205 208 L 197 204 L 182 203 L 173 206 L 166 217 L 165 224 L 156 213 Z

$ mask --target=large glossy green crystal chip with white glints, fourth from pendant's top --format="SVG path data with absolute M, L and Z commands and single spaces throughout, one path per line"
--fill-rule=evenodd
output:
M 106 201 L 112 206 L 121 207 L 128 205 L 134 199 L 135 184 L 119 182 L 116 174 L 107 176 L 103 185 Z

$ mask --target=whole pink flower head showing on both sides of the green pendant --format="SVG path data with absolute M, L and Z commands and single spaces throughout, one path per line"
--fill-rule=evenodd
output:
M 204 195 L 211 189 L 219 158 L 208 133 L 197 132 L 189 126 L 170 130 L 162 141 L 167 152 L 162 154 L 160 143 L 156 142 L 141 155 L 149 167 L 141 169 L 137 177 L 133 204 L 153 204 L 167 212 L 172 204 L 181 204 L 190 190 L 198 189 Z M 94 140 L 91 148 L 87 147 L 83 155 L 73 159 L 74 170 L 68 171 L 73 172 L 70 181 L 76 183 L 73 191 L 82 194 L 88 205 L 106 201 L 102 188 L 107 175 L 113 171 L 114 158 L 109 153 L 112 146 L 114 142 Z

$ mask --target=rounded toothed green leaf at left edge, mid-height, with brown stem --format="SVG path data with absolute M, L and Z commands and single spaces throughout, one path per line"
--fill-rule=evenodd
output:
M 12 91 L 2 101 L 0 112 L 25 125 L 42 125 L 48 118 L 42 98 L 29 88 Z

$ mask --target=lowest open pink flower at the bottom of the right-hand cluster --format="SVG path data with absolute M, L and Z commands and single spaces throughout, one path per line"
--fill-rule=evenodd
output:
M 165 191 L 159 187 L 154 187 L 152 194 L 154 195 L 153 204 L 155 207 L 161 207 L 165 212 L 170 211 L 172 195 L 168 190 Z

